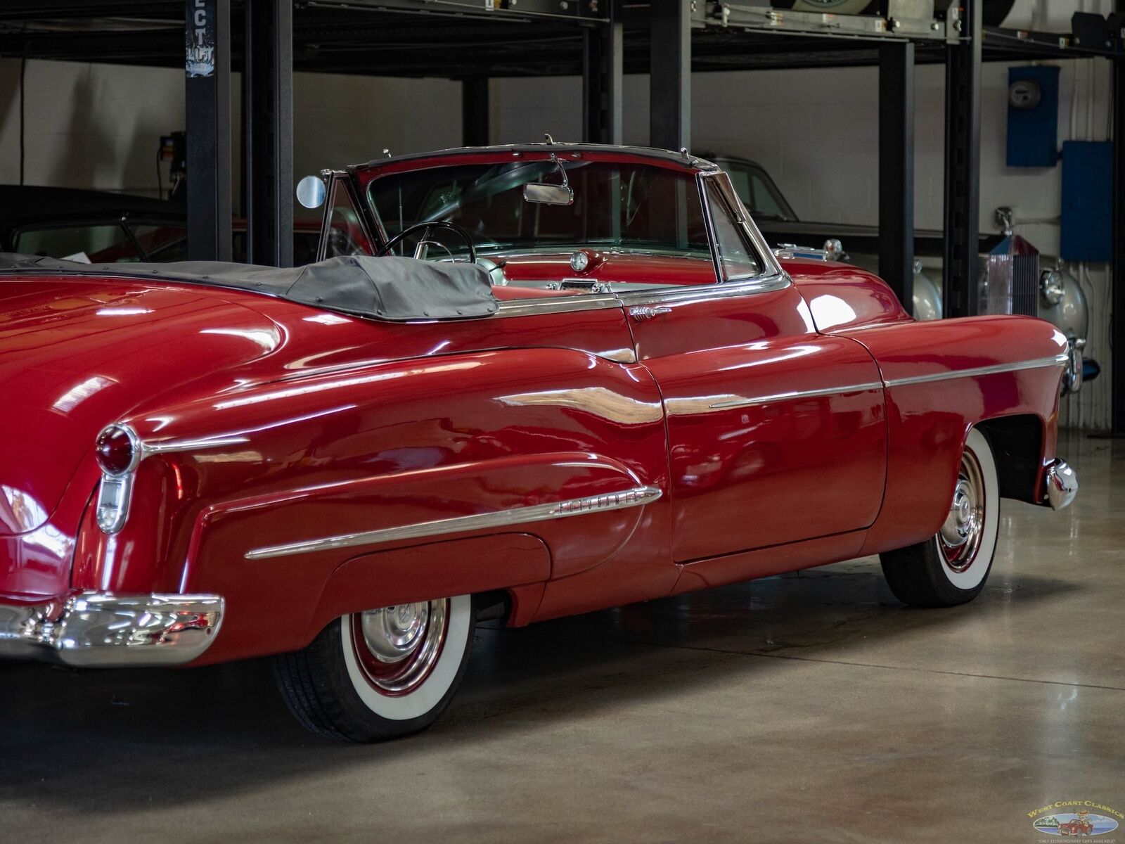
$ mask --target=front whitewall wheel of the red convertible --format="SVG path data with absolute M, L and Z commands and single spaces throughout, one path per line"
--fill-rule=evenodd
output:
M 880 555 L 886 585 L 902 603 L 953 607 L 984 589 L 1000 528 L 1000 483 L 992 449 L 973 429 L 965 439 L 950 513 L 925 542 Z

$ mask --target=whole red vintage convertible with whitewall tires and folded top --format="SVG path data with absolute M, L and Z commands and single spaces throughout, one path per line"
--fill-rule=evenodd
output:
M 778 262 L 706 161 L 548 143 L 323 179 L 302 268 L 0 257 L 0 658 L 273 655 L 306 726 L 387 738 L 438 717 L 482 618 L 872 554 L 947 607 L 1001 497 L 1077 491 L 1066 338 Z

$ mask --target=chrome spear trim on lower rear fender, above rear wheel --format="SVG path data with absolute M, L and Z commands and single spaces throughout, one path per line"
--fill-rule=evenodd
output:
M 660 497 L 660 490 L 655 486 L 634 486 L 631 490 L 590 495 L 585 499 L 569 499 L 549 504 L 532 504 L 525 508 L 500 510 L 494 513 L 477 515 L 458 515 L 452 519 L 438 519 L 431 522 L 404 524 L 400 528 L 384 528 L 368 530 L 362 533 L 344 533 L 322 539 L 308 539 L 303 542 L 288 542 L 266 548 L 254 548 L 246 551 L 246 559 L 270 559 L 272 557 L 289 557 L 295 554 L 312 554 L 327 551 L 334 548 L 352 548 L 363 545 L 379 545 L 402 539 L 424 539 L 443 533 L 460 533 L 467 530 L 500 528 L 508 524 L 526 524 L 549 519 L 565 519 L 570 515 L 601 513 L 609 510 L 623 510 L 649 504 Z

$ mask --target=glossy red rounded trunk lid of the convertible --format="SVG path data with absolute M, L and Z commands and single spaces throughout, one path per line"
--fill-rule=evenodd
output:
M 105 425 L 280 342 L 272 321 L 214 288 L 0 280 L 0 536 L 50 519 Z

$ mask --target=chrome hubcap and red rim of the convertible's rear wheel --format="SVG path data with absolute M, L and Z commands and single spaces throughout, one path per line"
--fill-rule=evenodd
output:
M 441 655 L 448 616 L 448 600 L 352 616 L 352 647 L 371 686 L 384 694 L 407 694 L 420 686 Z

